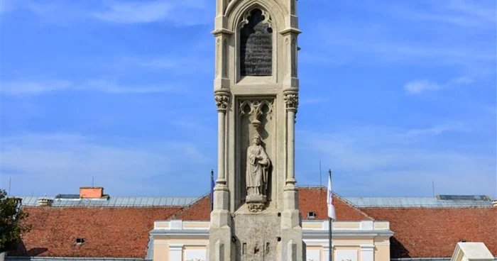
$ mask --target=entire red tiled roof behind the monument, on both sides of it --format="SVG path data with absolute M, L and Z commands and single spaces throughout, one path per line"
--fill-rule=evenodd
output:
M 325 188 L 300 188 L 302 218 L 327 219 Z M 391 257 L 450 257 L 459 240 L 484 242 L 497 255 L 497 208 L 356 208 L 334 195 L 339 221 L 389 221 Z M 210 197 L 187 207 L 26 207 L 33 230 L 11 255 L 53 257 L 146 257 L 153 222 L 208 221 Z M 76 238 L 85 243 L 76 245 Z

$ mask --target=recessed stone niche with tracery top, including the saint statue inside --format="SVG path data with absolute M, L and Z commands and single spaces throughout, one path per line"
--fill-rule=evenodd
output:
M 259 212 L 266 208 L 271 196 L 273 99 L 239 101 L 239 111 L 242 133 L 240 174 L 244 177 L 241 193 L 249 211 Z

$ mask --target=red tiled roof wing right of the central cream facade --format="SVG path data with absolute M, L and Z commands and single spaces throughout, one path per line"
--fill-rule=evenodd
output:
M 390 221 L 391 257 L 451 257 L 457 242 L 483 242 L 497 255 L 497 207 L 361 209 Z

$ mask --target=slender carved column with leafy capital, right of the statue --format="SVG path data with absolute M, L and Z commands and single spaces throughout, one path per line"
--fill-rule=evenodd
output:
M 297 113 L 298 107 L 298 94 L 296 92 L 288 92 L 285 94 L 283 99 L 286 105 L 287 111 L 287 128 L 288 128 L 288 140 L 287 140 L 287 177 L 285 181 L 285 186 L 295 187 L 295 113 Z

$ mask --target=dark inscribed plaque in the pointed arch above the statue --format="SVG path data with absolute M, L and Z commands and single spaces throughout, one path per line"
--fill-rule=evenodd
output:
M 241 76 L 268 76 L 273 71 L 273 29 L 260 9 L 251 11 L 240 30 Z

